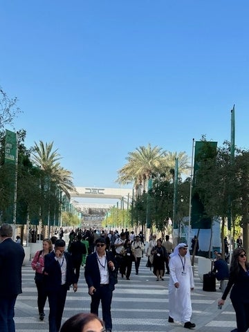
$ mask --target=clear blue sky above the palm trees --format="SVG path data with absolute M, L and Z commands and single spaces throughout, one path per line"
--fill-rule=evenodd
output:
M 54 141 L 75 186 L 118 187 L 129 151 L 248 149 L 249 2 L 1 1 L 0 85 L 26 146 Z M 10 128 L 8 128 L 10 129 Z

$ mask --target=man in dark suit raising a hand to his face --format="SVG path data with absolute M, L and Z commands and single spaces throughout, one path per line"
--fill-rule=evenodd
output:
M 73 271 L 71 255 L 65 252 L 66 243 L 55 241 L 55 250 L 44 256 L 44 281 L 48 292 L 49 332 L 58 332 L 62 322 L 66 293 L 73 284 L 77 291 L 77 279 Z

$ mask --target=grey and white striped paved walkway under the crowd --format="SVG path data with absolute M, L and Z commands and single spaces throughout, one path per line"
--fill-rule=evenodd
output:
M 183 332 L 183 324 L 170 324 L 168 280 L 156 282 L 156 277 L 145 267 L 146 257 L 141 260 L 139 274 L 135 274 L 133 266 L 131 280 L 119 277 L 116 290 L 113 292 L 112 316 L 113 332 Z M 17 297 L 15 323 L 17 332 L 48 331 L 48 303 L 44 322 L 39 321 L 37 313 L 37 290 L 34 282 L 34 271 L 30 264 L 22 269 L 23 293 Z M 204 292 L 202 282 L 195 273 L 195 289 L 192 292 L 192 322 L 196 324 L 194 331 L 229 332 L 236 327 L 235 314 L 230 299 L 225 301 L 221 310 L 217 308 L 217 300 L 221 297 L 219 284 L 216 292 Z M 84 269 L 81 270 L 77 293 L 68 291 L 63 320 L 79 312 L 89 312 L 90 297 L 84 281 Z M 100 310 L 101 317 L 101 310 Z

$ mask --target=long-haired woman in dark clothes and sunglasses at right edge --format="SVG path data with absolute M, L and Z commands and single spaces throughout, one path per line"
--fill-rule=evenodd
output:
M 246 332 L 249 329 L 249 264 L 243 248 L 234 249 L 232 253 L 228 286 L 218 302 L 219 305 L 224 304 L 231 288 L 230 299 L 237 320 L 237 329 L 232 332 Z

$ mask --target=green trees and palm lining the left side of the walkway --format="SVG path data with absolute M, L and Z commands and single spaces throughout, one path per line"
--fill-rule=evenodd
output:
M 24 145 L 26 131 L 18 132 L 18 165 L 17 165 L 17 224 L 24 224 L 29 218 L 31 225 L 42 221 L 43 225 L 59 225 L 62 208 L 62 190 L 68 196 L 68 190 L 74 190 L 71 172 L 57 163 L 57 152 L 53 145 L 43 145 L 41 152 L 27 149 Z M 1 222 L 12 220 L 14 198 L 15 165 L 4 163 L 5 133 L 0 132 L 0 216 Z M 36 146 L 38 148 L 38 146 Z M 44 149 L 43 149 L 44 147 Z M 35 158 L 35 153 L 38 156 Z M 31 154 L 35 158 L 33 165 Z M 39 158 L 41 157 L 41 158 Z M 39 164 L 40 162 L 40 164 Z M 73 218 L 72 218 L 73 220 Z M 73 223 L 79 223 L 71 221 Z

